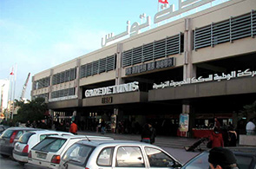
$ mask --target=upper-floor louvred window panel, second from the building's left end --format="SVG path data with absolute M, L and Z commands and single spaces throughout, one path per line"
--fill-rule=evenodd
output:
M 60 84 L 62 82 L 73 81 L 76 78 L 76 68 L 63 71 L 52 76 L 52 85 Z

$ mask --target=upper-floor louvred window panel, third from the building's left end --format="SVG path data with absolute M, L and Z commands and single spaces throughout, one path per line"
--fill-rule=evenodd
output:
M 82 65 L 80 69 L 80 78 L 115 70 L 115 57 L 115 55 L 110 55 L 103 59 L 99 59 L 98 61 Z

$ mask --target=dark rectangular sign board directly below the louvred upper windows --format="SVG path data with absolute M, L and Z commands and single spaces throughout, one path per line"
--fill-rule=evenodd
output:
M 154 69 L 174 67 L 174 65 L 175 65 L 175 58 L 171 57 L 161 61 L 148 62 L 141 65 L 126 68 L 125 75 L 140 74 L 140 73 L 148 72 Z

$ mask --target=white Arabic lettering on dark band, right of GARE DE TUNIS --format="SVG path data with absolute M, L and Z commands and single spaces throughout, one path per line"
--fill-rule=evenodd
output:
M 209 75 L 207 78 L 203 78 L 202 76 L 198 78 L 187 78 L 184 81 L 165 81 L 161 82 L 161 84 L 155 84 L 153 85 L 154 89 L 158 88 L 167 88 L 167 87 L 179 87 L 181 85 L 186 85 L 186 84 L 193 84 L 193 83 L 200 83 L 200 82 L 207 82 L 207 81 L 229 81 L 233 78 L 240 78 L 240 77 L 245 77 L 245 76 L 251 76 L 254 77 L 256 76 L 256 71 L 250 71 L 250 68 L 247 68 L 245 71 L 232 71 L 230 74 L 224 74 L 222 73 L 221 75 L 214 74 L 214 75 Z

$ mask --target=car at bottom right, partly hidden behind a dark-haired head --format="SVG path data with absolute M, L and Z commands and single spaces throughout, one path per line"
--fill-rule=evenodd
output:
M 236 159 L 239 168 L 241 169 L 255 169 L 256 168 L 256 147 L 227 147 L 230 149 Z M 208 155 L 209 152 L 203 152 L 190 159 L 181 169 L 192 169 L 192 168 L 208 168 Z

